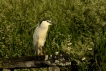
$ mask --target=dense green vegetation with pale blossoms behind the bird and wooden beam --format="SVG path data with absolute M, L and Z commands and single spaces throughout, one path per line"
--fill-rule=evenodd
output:
M 106 71 L 105 0 L 0 0 L 0 58 L 33 56 L 33 32 L 44 18 L 56 23 L 45 54 L 69 54 L 78 71 Z

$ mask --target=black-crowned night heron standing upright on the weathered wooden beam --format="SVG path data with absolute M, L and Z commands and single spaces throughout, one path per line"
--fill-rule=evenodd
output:
M 52 25 L 53 22 L 51 22 L 48 19 L 42 20 L 40 24 L 36 27 L 34 34 L 33 34 L 33 44 L 35 49 L 35 54 L 37 55 L 43 55 L 42 47 L 44 46 L 44 43 L 46 41 L 46 35 L 48 31 L 49 25 Z

